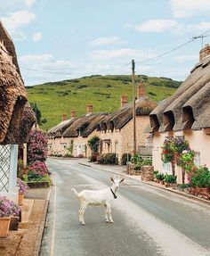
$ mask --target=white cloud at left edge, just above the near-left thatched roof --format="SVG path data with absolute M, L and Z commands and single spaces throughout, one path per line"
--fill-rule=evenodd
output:
M 2 17 L 2 21 L 10 32 L 27 26 L 36 19 L 36 14 L 27 10 L 11 12 L 8 16 Z

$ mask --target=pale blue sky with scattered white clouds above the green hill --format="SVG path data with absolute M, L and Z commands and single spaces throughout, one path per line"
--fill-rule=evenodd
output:
M 198 62 L 200 39 L 145 60 L 210 29 L 209 0 L 0 0 L 0 6 L 26 86 L 130 74 L 132 59 L 137 74 L 183 80 Z

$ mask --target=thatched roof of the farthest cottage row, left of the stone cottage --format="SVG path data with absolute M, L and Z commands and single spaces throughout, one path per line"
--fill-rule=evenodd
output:
M 90 113 L 81 117 L 62 121 L 48 131 L 50 137 L 77 137 L 89 136 L 101 120 L 107 117 L 107 113 Z

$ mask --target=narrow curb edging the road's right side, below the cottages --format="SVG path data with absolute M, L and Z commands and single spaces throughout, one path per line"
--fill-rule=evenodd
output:
M 92 165 L 88 165 L 88 164 L 85 164 L 85 163 L 83 163 L 83 162 L 78 162 L 78 163 L 79 163 L 80 165 L 84 165 L 85 167 L 89 167 L 89 168 L 93 167 Z M 100 169 L 100 168 L 97 168 L 97 167 L 96 167 L 96 169 Z M 142 183 L 142 184 L 145 184 L 145 185 L 149 185 L 149 186 L 153 186 L 153 187 L 156 187 L 156 188 L 160 188 L 160 189 L 163 189 L 163 190 L 165 190 L 165 191 L 171 192 L 171 193 L 173 193 L 173 194 L 179 194 L 179 195 L 184 196 L 184 197 L 186 197 L 186 198 L 188 198 L 188 199 L 190 199 L 190 200 L 194 200 L 194 201 L 198 201 L 198 202 L 204 202 L 204 203 L 206 203 L 207 205 L 210 206 L 210 201 L 206 201 L 205 199 L 199 198 L 199 197 L 194 196 L 194 195 L 192 195 L 192 194 L 185 194 L 185 193 L 183 193 L 183 192 L 181 192 L 181 191 L 177 191 L 177 190 L 174 190 L 174 189 L 170 189 L 170 188 L 167 188 L 167 187 L 164 187 L 164 186 L 157 186 L 156 184 L 151 184 L 151 183 L 149 183 L 149 182 L 146 182 L 146 181 L 142 181 L 142 180 L 133 178 L 132 176 L 127 175 L 127 174 L 124 174 L 124 173 L 120 173 L 120 174 L 119 174 L 119 173 L 117 173 L 117 171 L 112 171 L 112 170 L 109 170 L 109 169 L 100 169 L 100 170 L 103 170 L 103 171 L 106 171 L 106 172 L 109 172 L 109 173 L 114 173 L 114 174 L 123 176 L 123 177 L 125 177 L 125 178 L 131 178 L 131 179 L 133 179 L 133 180 L 135 180 L 135 181 L 137 181 L 137 182 L 139 182 L 139 183 Z

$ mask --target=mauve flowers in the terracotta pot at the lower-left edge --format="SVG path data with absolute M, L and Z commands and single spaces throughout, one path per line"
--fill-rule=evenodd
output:
M 19 216 L 19 214 L 20 207 L 5 196 L 0 195 L 0 217 Z

